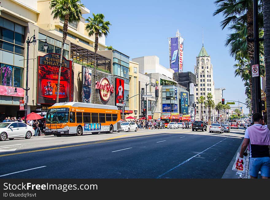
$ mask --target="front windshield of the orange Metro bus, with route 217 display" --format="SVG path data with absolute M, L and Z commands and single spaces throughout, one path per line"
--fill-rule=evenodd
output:
M 49 109 L 46 115 L 46 123 L 67 123 L 68 122 L 68 108 Z

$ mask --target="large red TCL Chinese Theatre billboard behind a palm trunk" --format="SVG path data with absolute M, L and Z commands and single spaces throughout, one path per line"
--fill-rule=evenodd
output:
M 38 57 L 37 103 L 55 104 L 60 54 L 50 53 Z M 71 61 L 63 57 L 60 77 L 59 102 L 71 101 Z

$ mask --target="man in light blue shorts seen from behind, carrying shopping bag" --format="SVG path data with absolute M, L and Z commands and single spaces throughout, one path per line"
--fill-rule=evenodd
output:
M 259 171 L 262 179 L 270 178 L 270 131 L 263 126 L 261 113 L 252 116 L 254 124 L 245 130 L 244 141 L 241 146 L 240 157 L 243 158 L 245 149 L 249 149 L 249 175 L 251 179 L 257 179 Z

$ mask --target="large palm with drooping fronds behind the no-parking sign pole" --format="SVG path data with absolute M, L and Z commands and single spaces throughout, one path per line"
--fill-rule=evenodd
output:
M 261 1 L 259 1 L 261 2 Z M 213 16 L 222 13 L 225 18 L 221 21 L 222 30 L 231 25 L 230 29 L 236 30 L 236 35 L 231 35 L 227 39 L 226 45 L 230 44 L 230 55 L 241 60 L 243 58 L 249 61 L 249 65 L 254 63 L 254 47 L 253 41 L 246 41 L 245 38 L 253 38 L 253 0 L 216 0 L 214 4 L 218 9 L 213 13 Z M 259 29 L 263 27 L 262 20 L 262 4 L 258 5 L 258 24 Z M 249 71 L 251 76 L 251 71 Z M 255 87 L 252 85 L 252 90 Z M 255 91 L 252 92 L 252 98 L 255 98 Z M 254 101 L 255 102 L 255 101 Z

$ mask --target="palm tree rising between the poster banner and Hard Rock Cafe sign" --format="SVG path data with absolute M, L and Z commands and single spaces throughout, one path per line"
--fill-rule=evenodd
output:
M 94 67 L 94 84 L 96 79 L 96 68 L 97 68 L 97 56 L 96 53 L 98 51 L 98 38 L 102 37 L 103 35 L 107 37 L 108 33 L 110 33 L 109 21 L 104 21 L 104 15 L 102 13 L 98 13 L 95 15 L 93 13 L 93 18 L 88 17 L 85 21 L 88 22 L 88 24 L 85 27 L 85 30 L 88 32 L 88 36 L 91 37 L 95 35 L 95 67 Z M 94 86 L 95 87 L 95 86 Z M 95 93 L 93 97 L 93 103 L 95 104 Z

